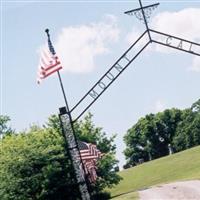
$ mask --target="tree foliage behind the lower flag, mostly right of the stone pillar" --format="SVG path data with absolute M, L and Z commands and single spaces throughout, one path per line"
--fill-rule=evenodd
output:
M 108 138 L 103 129 L 96 127 L 92 122 L 93 115 L 88 113 L 84 120 L 74 124 L 76 137 L 80 141 L 92 143 L 104 154 L 102 159 L 98 162 L 97 175 L 98 179 L 95 184 L 91 185 L 92 193 L 97 198 L 97 195 L 103 191 L 105 187 L 112 187 L 119 183 L 120 176 L 117 175 L 115 167 L 118 161 L 115 159 L 116 145 L 113 144 L 115 135 Z M 56 115 L 50 117 L 47 127 L 60 130 L 60 122 Z

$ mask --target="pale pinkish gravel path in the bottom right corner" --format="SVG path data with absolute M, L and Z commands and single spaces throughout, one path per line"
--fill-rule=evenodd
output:
M 200 180 L 155 186 L 139 191 L 140 200 L 200 200 Z

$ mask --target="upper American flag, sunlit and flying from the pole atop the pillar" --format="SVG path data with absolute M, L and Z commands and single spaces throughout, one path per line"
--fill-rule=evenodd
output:
M 60 69 L 62 69 L 62 66 L 56 54 L 53 54 L 47 49 L 43 49 L 38 67 L 37 83 L 40 84 L 43 79 Z

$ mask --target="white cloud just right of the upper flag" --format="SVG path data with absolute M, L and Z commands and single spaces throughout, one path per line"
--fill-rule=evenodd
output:
M 98 23 L 63 28 L 55 48 L 65 70 L 85 73 L 93 70 L 96 56 L 108 53 L 108 44 L 118 37 L 116 17 L 106 15 Z

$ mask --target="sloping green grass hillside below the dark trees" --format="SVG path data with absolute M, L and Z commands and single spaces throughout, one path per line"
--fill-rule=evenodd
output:
M 112 196 L 160 183 L 200 179 L 200 146 L 123 170 L 119 174 L 123 180 L 109 190 Z

